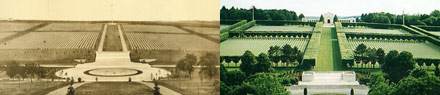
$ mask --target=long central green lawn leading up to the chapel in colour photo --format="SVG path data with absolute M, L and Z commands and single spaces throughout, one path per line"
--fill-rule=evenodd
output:
M 323 27 L 315 71 L 340 71 L 341 55 L 335 28 Z

